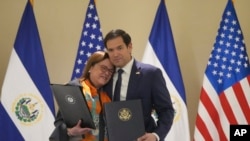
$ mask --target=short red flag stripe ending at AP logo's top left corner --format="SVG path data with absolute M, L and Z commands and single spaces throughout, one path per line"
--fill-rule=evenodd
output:
M 220 98 L 221 106 L 223 108 L 223 111 L 224 111 L 229 123 L 237 124 L 236 117 L 234 116 L 232 107 L 230 106 L 230 104 L 225 96 L 225 93 L 221 93 L 219 98 Z

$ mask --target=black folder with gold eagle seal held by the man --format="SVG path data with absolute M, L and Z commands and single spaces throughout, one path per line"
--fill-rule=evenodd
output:
M 104 104 L 109 141 L 135 141 L 145 134 L 141 100 Z

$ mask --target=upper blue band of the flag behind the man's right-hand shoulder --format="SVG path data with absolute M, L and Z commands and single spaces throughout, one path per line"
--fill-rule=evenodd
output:
M 186 103 L 185 89 L 164 0 L 161 0 L 156 13 L 149 42 L 170 80 Z

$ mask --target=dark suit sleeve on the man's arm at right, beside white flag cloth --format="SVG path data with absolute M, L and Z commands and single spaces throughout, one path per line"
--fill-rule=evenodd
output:
M 161 70 L 156 69 L 152 75 L 153 107 L 158 115 L 158 126 L 154 132 L 164 140 L 173 123 L 174 109 Z

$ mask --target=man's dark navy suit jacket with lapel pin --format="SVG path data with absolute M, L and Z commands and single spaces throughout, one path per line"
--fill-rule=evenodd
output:
M 112 99 L 113 80 L 105 86 Z M 126 100 L 141 99 L 146 132 L 155 132 L 164 140 L 174 117 L 174 109 L 166 88 L 166 82 L 159 68 L 138 61 L 133 62 Z M 158 114 L 157 126 L 151 116 L 152 109 Z

